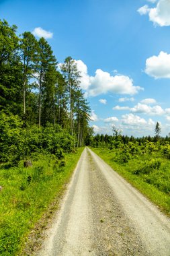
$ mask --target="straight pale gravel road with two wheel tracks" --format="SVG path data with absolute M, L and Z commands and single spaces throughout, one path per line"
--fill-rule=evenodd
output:
M 40 256 L 170 255 L 170 220 L 85 148 Z

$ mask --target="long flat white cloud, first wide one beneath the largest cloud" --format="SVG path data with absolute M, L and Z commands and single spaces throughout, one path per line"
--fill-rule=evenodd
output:
M 114 106 L 114 110 L 130 110 L 131 113 L 140 113 L 147 115 L 164 115 L 166 112 L 161 106 L 148 106 L 146 104 L 138 103 L 133 108 L 129 106 Z

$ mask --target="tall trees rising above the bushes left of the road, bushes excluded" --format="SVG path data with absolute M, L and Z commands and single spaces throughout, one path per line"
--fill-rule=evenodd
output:
M 62 129 L 73 137 L 74 147 L 82 146 L 90 131 L 90 108 L 80 79 L 72 57 L 58 67 L 45 38 L 37 40 L 31 32 L 18 36 L 17 26 L 0 20 L 0 147 L 5 143 L 5 122 L 8 129 L 17 123 L 19 129 L 21 124 L 22 129 L 36 126 L 40 131 L 57 127 L 57 133 Z

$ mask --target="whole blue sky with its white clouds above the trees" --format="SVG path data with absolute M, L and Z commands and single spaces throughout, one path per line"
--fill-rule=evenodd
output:
M 17 32 L 44 36 L 77 61 L 96 133 L 170 132 L 170 0 L 0 0 Z

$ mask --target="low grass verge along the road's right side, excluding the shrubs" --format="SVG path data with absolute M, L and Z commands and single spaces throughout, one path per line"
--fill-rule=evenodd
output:
M 137 156 L 126 164 L 116 161 L 114 150 L 91 148 L 99 157 L 107 162 L 132 186 L 136 187 L 143 195 L 159 206 L 160 210 L 170 216 L 170 194 L 167 187 L 170 185 L 170 161 L 163 159 L 161 168 L 148 174 L 134 174 L 134 170 L 141 168 L 146 158 L 153 156 Z M 157 158 L 157 156 L 155 156 Z M 165 193 L 167 191 L 167 193 Z

